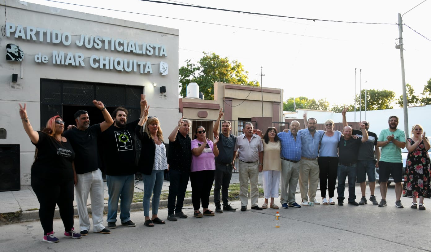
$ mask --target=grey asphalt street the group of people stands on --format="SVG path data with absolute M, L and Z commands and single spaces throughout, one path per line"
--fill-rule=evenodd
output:
M 347 189 L 347 188 L 346 188 Z M 376 187 L 379 195 L 379 186 Z M 367 189 L 368 191 L 368 189 Z M 360 195 L 356 187 L 356 195 Z M 278 209 L 281 227 L 275 227 L 275 209 L 215 214 L 194 218 L 193 208 L 184 208 L 189 218 L 144 226 L 142 211 L 131 213 L 136 227 L 119 225 L 111 234 L 92 233 L 73 240 L 63 238 L 60 219 L 54 220 L 59 243 L 42 242 L 39 221 L 0 226 L 1 251 L 431 251 L 431 209 L 411 209 L 411 199 L 402 198 L 405 208 L 394 206 L 394 186 L 388 188 L 386 207 L 367 205 L 314 205 Z M 300 202 L 300 194 L 297 193 Z M 318 191 L 318 196 L 320 192 Z M 317 197 L 319 199 L 319 197 Z M 367 195 L 369 198 L 369 195 Z M 380 197 L 377 196 L 378 200 Z M 359 200 L 359 199 L 357 199 Z M 428 200 L 429 201 L 429 200 Z M 428 201 L 425 201 L 427 204 Z M 231 202 L 240 208 L 240 202 Z M 263 199 L 259 199 L 262 205 Z M 276 200 L 279 204 L 279 201 Z M 428 206 L 431 207 L 431 204 Z M 210 209 L 215 210 L 214 205 Z M 167 209 L 159 209 L 166 220 Z M 105 225 L 106 225 L 106 217 Z M 79 220 L 75 219 L 79 229 Z

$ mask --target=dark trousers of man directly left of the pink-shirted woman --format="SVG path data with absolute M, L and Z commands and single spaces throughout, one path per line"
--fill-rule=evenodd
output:
M 182 211 L 189 177 L 189 171 L 169 169 L 168 215 L 172 215 L 174 211 L 176 213 Z M 177 199 L 176 205 L 175 198 Z

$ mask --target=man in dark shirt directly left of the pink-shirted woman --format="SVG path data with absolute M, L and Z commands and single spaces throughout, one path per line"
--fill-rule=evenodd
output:
M 168 220 L 176 221 L 178 218 L 187 218 L 182 212 L 184 196 L 190 177 L 191 166 L 191 138 L 188 136 L 191 121 L 181 118 L 178 125 L 169 135 L 169 196 Z M 175 198 L 177 204 L 175 205 Z M 175 213 L 174 213 L 175 212 Z

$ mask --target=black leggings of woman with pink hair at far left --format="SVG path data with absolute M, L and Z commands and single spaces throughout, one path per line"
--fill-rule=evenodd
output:
M 39 204 L 39 219 L 44 234 L 53 231 L 55 206 L 58 205 L 64 230 L 70 231 L 73 227 L 73 180 L 46 180 L 31 178 L 31 188 L 36 194 Z

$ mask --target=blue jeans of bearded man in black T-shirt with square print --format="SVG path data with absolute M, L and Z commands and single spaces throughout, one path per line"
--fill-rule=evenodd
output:
M 117 221 L 118 200 L 120 202 L 121 223 L 130 221 L 130 206 L 133 200 L 134 174 L 122 176 L 106 175 L 108 186 L 108 222 Z

